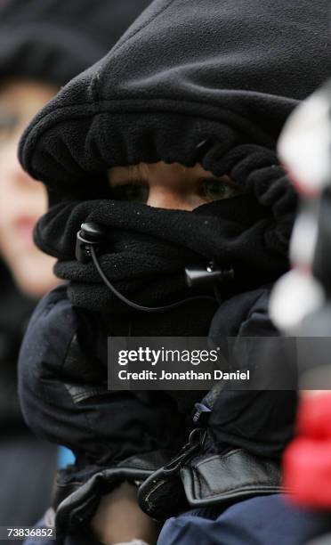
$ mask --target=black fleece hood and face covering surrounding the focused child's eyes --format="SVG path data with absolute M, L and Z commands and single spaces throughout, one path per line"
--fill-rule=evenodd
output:
M 75 305 L 112 303 L 93 264 L 75 259 L 84 221 L 111 233 L 103 269 L 142 304 L 183 292 L 183 256 L 234 266 L 237 290 L 287 269 L 295 194 L 274 147 L 290 110 L 328 74 L 327 9 L 327 0 L 157 0 L 41 110 L 20 159 L 53 198 L 35 240 L 59 259 Z M 201 163 L 243 194 L 193 213 L 111 200 L 109 167 L 158 160 Z

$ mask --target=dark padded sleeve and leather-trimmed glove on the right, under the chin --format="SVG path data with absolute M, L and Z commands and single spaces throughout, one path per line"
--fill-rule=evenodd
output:
M 296 392 L 273 388 L 275 377 L 269 375 L 270 362 L 283 363 L 286 355 L 270 321 L 269 293 L 256 289 L 231 297 L 210 329 L 213 345 L 226 358 L 235 352 L 239 369 L 253 374 L 266 368 L 266 389 L 230 389 L 225 380 L 214 385 L 198 403 L 188 443 L 141 485 L 140 505 L 150 517 L 165 520 L 190 508 L 228 507 L 282 491 L 279 462 L 294 432 Z M 245 339 L 257 342 L 247 345 Z

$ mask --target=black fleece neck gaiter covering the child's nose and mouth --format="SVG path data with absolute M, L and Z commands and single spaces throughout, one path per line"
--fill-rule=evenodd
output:
M 253 199 L 244 196 L 206 204 L 193 212 L 107 199 L 58 206 L 47 215 L 50 235 L 66 224 L 65 232 L 57 237 L 55 273 L 69 281 L 74 305 L 103 312 L 123 309 L 93 262 L 80 264 L 75 259 L 76 233 L 82 222 L 89 221 L 100 224 L 106 235 L 99 255 L 102 270 L 125 297 L 141 305 L 166 305 L 190 297 L 185 267 L 204 266 L 212 259 L 220 267 L 234 269 L 235 280 L 227 290 L 242 289 L 258 281 L 256 275 L 261 279 L 281 273 L 286 264 L 283 257 L 263 256 L 262 225 L 268 220 L 261 217 L 261 224 L 256 224 L 257 213 L 261 216 Z

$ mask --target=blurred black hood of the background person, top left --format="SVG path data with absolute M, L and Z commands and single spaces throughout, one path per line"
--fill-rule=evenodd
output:
M 64 85 L 107 53 L 150 0 L 4 0 L 0 78 Z

